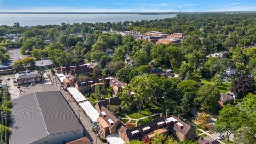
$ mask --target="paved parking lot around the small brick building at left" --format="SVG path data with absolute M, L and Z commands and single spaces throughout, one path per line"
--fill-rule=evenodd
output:
M 17 82 L 15 82 L 15 77 L 13 74 L 0 76 L 1 85 L 7 85 L 11 99 L 16 99 L 21 97 L 22 95 L 26 95 L 35 91 L 45 91 L 45 90 L 55 90 L 54 86 L 42 86 L 52 84 L 47 74 L 43 75 L 44 81 L 42 83 L 35 83 L 35 85 L 31 85 L 28 83 L 27 86 L 20 85 L 17 86 Z

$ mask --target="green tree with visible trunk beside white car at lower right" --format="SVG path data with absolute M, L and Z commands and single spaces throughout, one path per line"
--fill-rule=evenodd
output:
M 214 130 L 220 133 L 227 132 L 229 141 L 230 134 L 239 129 L 242 119 L 239 118 L 239 107 L 227 104 L 220 110 L 218 120 L 215 122 Z

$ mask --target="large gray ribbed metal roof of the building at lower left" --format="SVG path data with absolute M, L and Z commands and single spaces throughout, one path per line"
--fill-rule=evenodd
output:
M 59 91 L 14 99 L 10 143 L 32 143 L 48 135 L 83 130 Z

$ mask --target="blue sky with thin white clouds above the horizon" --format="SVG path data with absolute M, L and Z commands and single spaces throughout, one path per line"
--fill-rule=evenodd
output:
M 8 12 L 256 11 L 255 0 L 0 0 Z

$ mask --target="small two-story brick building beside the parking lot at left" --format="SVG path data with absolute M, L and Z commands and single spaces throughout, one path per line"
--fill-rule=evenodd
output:
M 18 85 L 29 84 L 31 82 L 39 82 L 41 81 L 41 75 L 38 74 L 37 71 L 24 72 L 15 74 L 16 81 Z

